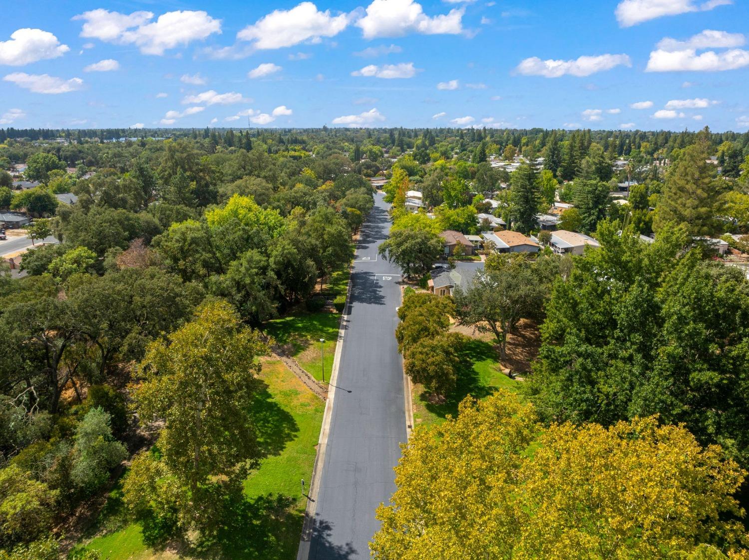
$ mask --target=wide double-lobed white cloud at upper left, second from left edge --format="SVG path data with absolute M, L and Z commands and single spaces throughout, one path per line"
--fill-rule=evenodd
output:
M 204 40 L 221 33 L 221 20 L 198 10 L 175 10 L 160 15 L 137 11 L 128 14 L 110 12 L 103 8 L 74 16 L 82 19 L 80 36 L 99 39 L 106 43 L 135 45 L 144 55 L 163 55 L 168 49 L 187 46 L 194 40 Z

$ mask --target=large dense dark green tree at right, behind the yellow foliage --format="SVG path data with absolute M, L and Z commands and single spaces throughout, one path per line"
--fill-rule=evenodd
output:
M 659 414 L 749 464 L 748 281 L 685 253 L 682 227 L 664 227 L 653 243 L 619 228 L 602 222 L 601 247 L 554 285 L 532 399 L 554 421 Z

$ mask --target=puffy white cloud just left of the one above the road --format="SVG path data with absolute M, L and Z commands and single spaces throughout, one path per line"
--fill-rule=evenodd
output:
M 317 43 L 321 37 L 334 37 L 349 24 L 351 16 L 331 16 L 312 2 L 302 2 L 291 10 L 273 10 L 237 33 L 237 39 L 252 41 L 255 49 L 281 49 L 304 41 Z

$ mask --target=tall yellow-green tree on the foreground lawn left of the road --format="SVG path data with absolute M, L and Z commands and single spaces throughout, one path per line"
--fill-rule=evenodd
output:
M 267 353 L 255 330 L 231 305 L 206 304 L 195 319 L 151 344 L 139 367 L 145 380 L 134 394 L 142 422 L 164 420 L 159 449 L 170 473 L 189 489 L 179 507 L 189 523 L 216 477 L 242 479 L 258 457 L 248 409 L 258 390 L 258 356 Z

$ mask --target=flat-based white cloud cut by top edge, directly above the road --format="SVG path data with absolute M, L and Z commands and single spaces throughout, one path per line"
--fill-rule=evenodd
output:
M 427 16 L 422 5 L 413 0 L 373 0 L 356 25 L 365 39 L 401 37 L 408 33 L 461 34 L 464 11 L 456 8 L 446 14 Z

